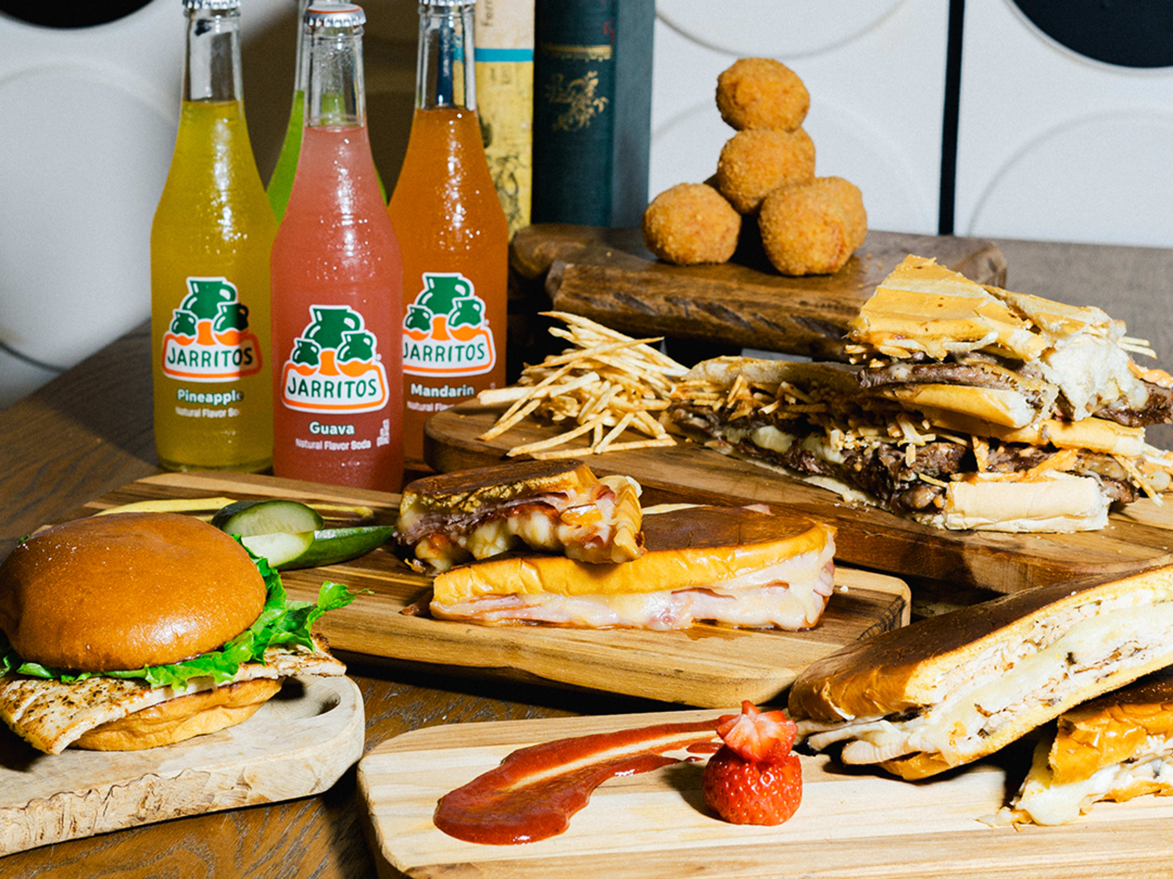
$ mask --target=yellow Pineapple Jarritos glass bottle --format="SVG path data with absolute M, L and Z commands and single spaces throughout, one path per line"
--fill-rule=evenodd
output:
M 277 222 L 244 122 L 239 0 L 183 5 L 179 130 L 150 237 L 155 448 L 171 470 L 264 470 Z

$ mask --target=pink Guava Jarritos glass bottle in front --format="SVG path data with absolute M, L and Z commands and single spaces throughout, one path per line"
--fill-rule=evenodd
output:
M 365 21 L 305 13 L 305 130 L 271 260 L 273 473 L 398 491 L 402 264 L 367 139 Z

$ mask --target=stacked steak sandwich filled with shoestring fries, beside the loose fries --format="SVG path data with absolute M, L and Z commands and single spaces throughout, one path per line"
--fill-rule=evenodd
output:
M 1103 527 L 1169 488 L 1145 442 L 1173 379 L 1098 308 L 985 287 L 909 257 L 853 325 L 866 364 L 720 357 L 665 420 L 725 454 L 945 529 Z

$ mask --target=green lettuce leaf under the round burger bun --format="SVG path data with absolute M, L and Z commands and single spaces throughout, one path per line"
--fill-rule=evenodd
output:
M 267 597 L 265 607 L 256 621 L 218 650 L 204 653 L 194 659 L 169 666 L 151 666 L 126 672 L 77 672 L 50 668 L 38 662 L 26 662 L 12 649 L 12 645 L 0 632 L 0 675 L 8 672 L 57 680 L 65 683 L 84 681 L 87 677 L 141 677 L 151 687 L 182 687 L 192 677 L 211 676 L 217 683 L 232 680 L 246 662 L 263 662 L 269 647 L 313 647 L 310 628 L 324 613 L 346 607 L 359 594 L 339 582 L 324 582 L 318 591 L 318 600 L 292 601 L 286 598 L 282 578 L 269 563 L 253 553 L 260 575 L 265 580 Z

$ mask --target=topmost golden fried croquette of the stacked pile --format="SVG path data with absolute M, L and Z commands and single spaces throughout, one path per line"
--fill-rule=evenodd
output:
M 738 131 L 769 128 L 793 131 L 811 108 L 811 94 L 786 64 L 744 57 L 717 77 L 717 109 Z

